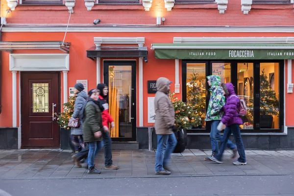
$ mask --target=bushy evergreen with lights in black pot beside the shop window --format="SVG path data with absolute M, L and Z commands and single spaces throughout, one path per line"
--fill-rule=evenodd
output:
M 174 148 L 174 153 L 181 153 L 187 147 L 187 129 L 201 125 L 201 117 L 195 106 L 186 104 L 170 94 L 170 99 L 175 112 L 175 126 L 177 131 L 174 133 L 177 139 L 177 145 Z

